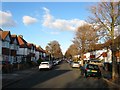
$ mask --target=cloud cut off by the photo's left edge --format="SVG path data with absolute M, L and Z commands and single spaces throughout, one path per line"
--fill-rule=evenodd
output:
M 16 22 L 12 18 L 10 12 L 0 11 L 0 26 L 1 27 L 15 27 Z

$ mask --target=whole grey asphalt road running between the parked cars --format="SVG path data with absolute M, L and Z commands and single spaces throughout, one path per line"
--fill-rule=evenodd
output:
M 52 70 L 39 71 L 36 68 L 33 72 L 5 88 L 105 88 L 109 90 L 108 84 L 102 78 L 83 78 L 80 76 L 79 69 L 71 68 L 65 61 Z

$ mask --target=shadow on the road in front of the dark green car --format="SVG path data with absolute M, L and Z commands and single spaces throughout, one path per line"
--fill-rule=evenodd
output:
M 66 88 L 85 88 L 85 89 L 97 88 L 102 90 L 104 89 L 109 90 L 108 84 L 102 79 L 97 79 L 94 77 L 84 78 L 82 76 L 66 85 Z

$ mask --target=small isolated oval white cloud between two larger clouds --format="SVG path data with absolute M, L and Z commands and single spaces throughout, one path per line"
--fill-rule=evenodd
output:
M 30 16 L 23 16 L 23 23 L 25 25 L 31 25 L 36 23 L 38 20 L 36 18 L 30 17 Z

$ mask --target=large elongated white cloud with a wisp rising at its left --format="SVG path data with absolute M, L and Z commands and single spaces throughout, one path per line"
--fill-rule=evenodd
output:
M 49 9 L 43 7 L 43 10 L 45 11 L 45 14 L 43 15 L 42 25 L 51 29 L 76 31 L 79 26 L 87 23 L 80 19 L 56 19 L 50 14 Z

